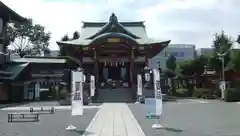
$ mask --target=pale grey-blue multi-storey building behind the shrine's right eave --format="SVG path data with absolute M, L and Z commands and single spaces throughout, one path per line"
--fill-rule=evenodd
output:
M 166 62 L 170 55 L 176 57 L 177 62 L 193 60 L 195 58 L 195 45 L 192 44 L 169 44 L 158 55 L 149 60 L 150 68 L 166 68 Z

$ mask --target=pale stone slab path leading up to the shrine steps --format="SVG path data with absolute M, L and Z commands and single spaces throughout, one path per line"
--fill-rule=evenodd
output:
M 83 136 L 145 136 L 145 133 L 126 103 L 104 103 Z

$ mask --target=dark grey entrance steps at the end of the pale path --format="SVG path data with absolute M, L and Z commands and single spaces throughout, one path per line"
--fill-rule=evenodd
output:
M 100 89 L 96 102 L 133 102 L 130 88 Z

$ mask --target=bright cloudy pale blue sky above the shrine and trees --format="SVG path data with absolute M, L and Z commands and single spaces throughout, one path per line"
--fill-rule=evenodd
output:
M 1 0 L 24 17 L 52 32 L 50 48 L 65 34 L 80 31 L 82 21 L 145 21 L 147 34 L 171 43 L 210 47 L 224 30 L 236 39 L 240 32 L 240 0 Z

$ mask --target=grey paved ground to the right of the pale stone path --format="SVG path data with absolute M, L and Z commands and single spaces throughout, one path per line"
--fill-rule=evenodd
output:
M 192 100 L 190 100 L 192 101 Z M 153 129 L 144 104 L 129 108 L 147 136 L 240 136 L 240 105 L 219 100 L 180 100 L 163 103 L 163 129 Z

